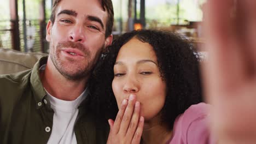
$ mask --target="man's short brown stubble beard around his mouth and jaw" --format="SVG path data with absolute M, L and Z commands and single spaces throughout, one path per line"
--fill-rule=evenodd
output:
M 55 46 L 53 43 L 50 43 L 50 58 L 51 61 L 53 62 L 55 68 L 59 71 L 59 73 L 64 76 L 67 80 L 71 80 L 71 81 L 79 81 L 82 80 L 86 77 L 89 77 L 91 75 L 91 71 L 93 70 L 93 68 L 95 67 L 95 64 L 97 63 L 98 59 L 101 56 L 101 53 L 104 49 L 104 46 L 101 47 L 100 50 L 98 50 L 96 52 L 95 57 L 90 61 L 91 59 L 91 55 L 90 52 L 85 48 L 83 48 L 84 50 L 82 50 L 87 58 L 87 64 L 85 65 L 79 65 L 78 64 L 78 68 L 74 69 L 76 70 L 75 72 L 72 71 L 73 73 L 71 73 L 70 71 L 67 70 L 67 67 L 65 68 L 65 62 L 62 62 L 60 59 L 60 50 L 62 47 L 75 47 L 76 44 L 74 44 L 73 42 L 67 42 L 65 44 L 57 44 L 57 46 Z M 76 45 L 77 46 L 77 45 Z M 81 45 L 82 46 L 82 45 Z M 75 47 L 79 50 L 81 50 L 82 48 L 79 47 Z

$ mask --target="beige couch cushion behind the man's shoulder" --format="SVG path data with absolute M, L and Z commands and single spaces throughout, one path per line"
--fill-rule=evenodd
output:
M 25 53 L 0 48 L 0 74 L 11 74 L 32 69 L 33 65 L 42 56 L 47 56 L 47 54 L 38 52 Z

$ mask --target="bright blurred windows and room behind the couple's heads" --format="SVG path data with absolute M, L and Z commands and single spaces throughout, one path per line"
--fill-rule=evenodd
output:
M 0 47 L 25 52 L 48 52 L 45 26 L 52 0 L 1 0 Z M 166 29 L 201 43 L 202 5 L 206 0 L 112 0 L 113 35 L 133 29 Z

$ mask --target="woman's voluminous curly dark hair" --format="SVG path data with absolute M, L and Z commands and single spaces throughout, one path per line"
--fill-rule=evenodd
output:
M 91 94 L 100 104 L 101 116 L 115 119 L 117 101 L 112 91 L 114 63 L 118 52 L 133 37 L 153 46 L 158 58 L 162 79 L 166 82 L 167 95 L 161 110 L 161 120 L 172 130 L 176 117 L 189 106 L 202 101 L 199 55 L 188 40 L 176 33 L 139 30 L 127 32 L 107 47 L 91 76 Z M 139 47 L 138 47 L 139 49 Z

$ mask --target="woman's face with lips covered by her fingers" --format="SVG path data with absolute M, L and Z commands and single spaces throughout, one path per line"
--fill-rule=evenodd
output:
M 135 94 L 146 121 L 158 116 L 165 103 L 166 84 L 150 44 L 132 38 L 123 45 L 115 61 L 114 75 L 112 89 L 118 107 L 123 99 Z

